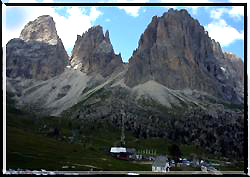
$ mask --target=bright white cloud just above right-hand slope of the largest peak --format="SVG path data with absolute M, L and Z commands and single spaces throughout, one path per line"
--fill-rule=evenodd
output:
M 205 26 L 211 38 L 218 41 L 222 46 L 228 46 L 235 40 L 243 40 L 244 32 L 237 31 L 232 26 L 228 25 L 225 20 L 215 20 Z

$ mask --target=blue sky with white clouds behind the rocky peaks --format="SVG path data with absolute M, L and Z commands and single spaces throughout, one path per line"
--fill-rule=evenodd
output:
M 171 2 L 170 0 L 125 0 L 126 2 Z M 215 1 L 215 0 L 214 0 Z M 199 2 L 214 2 L 200 0 Z M 220 1 L 220 2 L 233 2 Z M 4 2 L 20 2 L 9 0 Z M 23 0 L 22 2 L 84 2 L 63 0 Z M 93 2 L 93 1 L 91 1 Z M 100 0 L 95 2 L 124 2 L 120 0 Z M 172 2 L 186 2 L 177 0 Z M 189 0 L 187 2 L 198 2 Z M 235 1 L 241 2 L 241 1 Z M 242 1 L 244 2 L 244 1 Z M 149 4 L 150 5 L 150 4 Z M 170 7 L 164 6 L 126 6 L 126 7 L 6 7 L 6 35 L 3 35 L 4 45 L 8 40 L 18 37 L 24 25 L 40 15 L 51 15 L 57 27 L 57 32 L 64 46 L 71 54 L 76 36 L 82 35 L 91 26 L 101 25 L 109 30 L 110 39 L 115 52 L 121 53 L 123 61 L 127 62 L 133 50 L 138 47 L 141 34 L 150 23 L 153 16 L 162 16 Z M 243 7 L 173 7 L 187 9 L 191 16 L 197 19 L 209 36 L 220 42 L 224 51 L 232 52 L 243 58 Z

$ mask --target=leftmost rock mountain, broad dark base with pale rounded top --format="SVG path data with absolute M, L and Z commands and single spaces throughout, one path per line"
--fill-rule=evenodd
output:
M 53 18 L 44 15 L 25 25 L 20 38 L 6 46 L 7 77 L 47 80 L 69 63 Z

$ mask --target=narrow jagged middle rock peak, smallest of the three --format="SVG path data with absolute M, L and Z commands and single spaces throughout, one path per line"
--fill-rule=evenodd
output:
M 123 68 L 121 56 L 114 53 L 109 32 L 106 31 L 104 36 L 101 26 L 92 27 L 82 36 L 77 36 L 71 65 L 87 74 L 95 72 L 103 77 Z

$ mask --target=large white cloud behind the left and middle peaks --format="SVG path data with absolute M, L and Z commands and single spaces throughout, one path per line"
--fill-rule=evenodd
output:
M 10 0 L 11 2 L 17 2 L 17 0 Z M 25 0 L 25 2 L 34 2 L 35 0 Z M 43 2 L 53 2 L 53 0 L 44 0 Z M 7 13 L 8 13 L 7 7 Z M 23 20 L 14 30 L 7 29 L 6 36 L 4 38 L 4 45 L 12 38 L 19 37 L 24 25 L 29 21 L 35 20 L 41 15 L 50 15 L 53 17 L 56 23 L 56 29 L 59 37 L 62 39 L 66 50 L 73 48 L 77 34 L 81 35 L 87 29 L 89 29 L 93 22 L 102 15 L 102 12 L 97 10 L 96 7 L 91 7 L 89 14 L 84 8 L 80 7 L 67 7 L 65 16 L 59 15 L 54 7 L 49 6 L 19 6 L 10 7 L 17 8 L 23 12 Z

